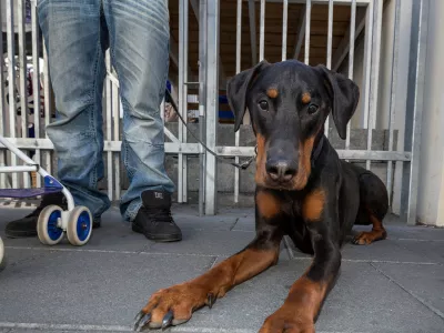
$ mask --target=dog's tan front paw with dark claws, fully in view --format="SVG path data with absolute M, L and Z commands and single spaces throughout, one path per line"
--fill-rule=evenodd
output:
M 214 296 L 202 285 L 182 283 L 154 293 L 134 319 L 134 331 L 164 329 L 189 321 L 192 312 L 205 304 L 212 306 Z

